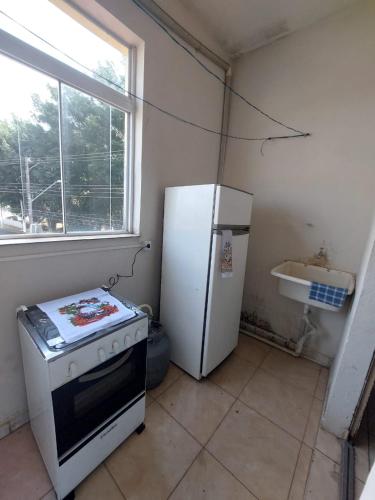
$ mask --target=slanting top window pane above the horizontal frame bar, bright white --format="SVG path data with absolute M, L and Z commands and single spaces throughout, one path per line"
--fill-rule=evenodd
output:
M 91 23 L 89 30 L 48 0 L 1 0 L 0 26 L 118 92 L 127 90 L 128 49 L 113 39 L 108 43 Z

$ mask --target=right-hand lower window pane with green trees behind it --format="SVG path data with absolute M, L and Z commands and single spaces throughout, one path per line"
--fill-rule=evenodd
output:
M 124 227 L 126 113 L 62 85 L 67 232 Z

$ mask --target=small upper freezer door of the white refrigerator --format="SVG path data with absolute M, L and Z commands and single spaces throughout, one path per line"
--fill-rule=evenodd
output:
M 214 224 L 248 226 L 252 203 L 252 194 L 227 186 L 217 186 Z

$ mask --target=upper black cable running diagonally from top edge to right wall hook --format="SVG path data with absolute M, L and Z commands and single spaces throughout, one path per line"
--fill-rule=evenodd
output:
M 293 136 L 293 137 L 306 137 L 307 134 L 306 132 L 302 132 L 301 130 L 295 129 L 293 127 L 290 127 L 289 125 L 286 125 L 285 123 L 281 122 L 280 120 L 277 120 L 276 118 L 273 118 L 271 115 L 260 109 L 258 106 L 250 102 L 246 97 L 241 95 L 237 90 L 235 90 L 233 87 L 227 84 L 227 82 L 221 78 L 219 75 L 217 75 L 214 71 L 212 71 L 206 64 L 204 64 L 190 49 L 188 49 L 183 43 L 181 43 L 172 33 L 166 28 L 155 16 L 153 16 L 147 9 L 143 7 L 142 4 L 140 4 L 137 0 L 132 0 L 132 2 L 140 9 L 142 12 L 144 12 L 150 19 L 152 19 L 158 26 L 161 28 L 166 35 L 169 36 L 173 42 L 175 42 L 179 47 L 181 47 L 187 54 L 189 54 L 190 57 L 192 57 L 198 64 L 201 66 L 207 73 L 209 73 L 213 78 L 218 80 L 226 89 L 228 89 L 232 94 L 240 98 L 243 102 L 245 102 L 248 106 L 251 108 L 255 109 L 260 113 L 261 115 L 265 116 L 269 120 L 273 121 L 274 123 L 277 123 L 278 125 L 281 125 L 282 127 L 285 127 L 289 130 L 292 130 L 293 132 L 296 132 L 296 134 L 299 134 L 298 136 Z

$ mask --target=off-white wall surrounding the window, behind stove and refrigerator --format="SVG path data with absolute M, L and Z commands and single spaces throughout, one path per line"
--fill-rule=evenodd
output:
M 131 1 L 102 3 L 145 42 L 145 97 L 190 120 L 220 129 L 222 86 Z M 94 2 L 85 1 L 84 5 L 100 11 Z M 118 29 L 115 18 L 105 17 L 106 22 L 117 24 Z M 126 33 L 125 28 L 123 32 Z M 171 185 L 215 182 L 219 139 L 145 106 L 142 144 L 140 229 L 142 239 L 152 240 L 153 249 L 139 255 L 135 278 L 122 280 L 116 291 L 136 303 L 150 303 L 157 311 L 163 189 Z M 118 247 L 135 241 L 113 239 L 0 246 L 0 436 L 9 426 L 15 428 L 27 418 L 16 307 L 97 287 L 111 274 L 128 271 L 135 249 Z M 92 251 L 98 248 L 103 250 Z M 69 253 L 72 251 L 78 253 Z M 31 258 L 38 254 L 48 255 Z M 17 258 L 22 255 L 28 258 Z

